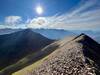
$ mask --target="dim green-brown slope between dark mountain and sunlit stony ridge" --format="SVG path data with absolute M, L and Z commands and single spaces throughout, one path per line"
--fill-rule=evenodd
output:
M 47 47 L 45 47 L 44 49 L 42 49 L 41 51 L 28 55 L 25 58 L 18 61 L 16 64 L 4 68 L 3 70 L 0 71 L 0 75 L 11 75 L 12 73 L 44 58 L 45 56 L 53 52 L 56 48 L 58 48 L 58 45 L 52 43 Z

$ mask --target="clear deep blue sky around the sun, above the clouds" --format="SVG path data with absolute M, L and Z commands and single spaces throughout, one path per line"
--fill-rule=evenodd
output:
M 38 16 L 35 7 L 43 6 L 45 12 L 42 16 L 53 16 L 56 13 L 65 13 L 76 6 L 80 0 L 0 0 L 0 20 L 6 16 L 16 15 L 23 19 Z

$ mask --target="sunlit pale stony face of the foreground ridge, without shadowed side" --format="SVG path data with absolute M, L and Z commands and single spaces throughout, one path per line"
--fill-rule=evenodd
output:
M 99 75 L 96 74 L 95 62 L 84 56 L 83 44 L 78 41 L 84 40 L 84 35 L 72 40 L 59 41 L 59 48 L 38 66 L 26 75 Z

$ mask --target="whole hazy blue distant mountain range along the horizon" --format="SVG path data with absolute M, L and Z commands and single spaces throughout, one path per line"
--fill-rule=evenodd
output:
M 0 35 L 10 34 L 23 29 L 0 29 Z M 64 37 L 76 36 L 85 33 L 100 43 L 100 31 L 92 30 L 63 30 L 63 29 L 31 29 L 36 33 L 49 38 L 49 39 L 63 39 Z

